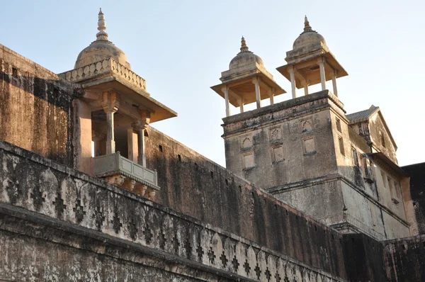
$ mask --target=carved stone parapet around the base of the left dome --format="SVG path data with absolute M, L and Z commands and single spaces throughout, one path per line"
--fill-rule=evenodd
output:
M 141 88 L 146 89 L 146 81 L 142 77 L 138 76 L 135 72 L 132 72 L 131 69 L 125 67 L 123 64 L 116 62 L 112 58 L 102 60 L 99 62 L 94 62 L 93 64 L 86 65 L 85 67 L 79 67 L 78 69 L 72 69 L 68 72 L 62 72 L 58 74 L 62 79 L 66 79 L 71 82 L 79 82 L 84 79 L 89 79 L 98 74 L 113 72 L 118 74 L 119 77 L 130 82 L 130 84 Z

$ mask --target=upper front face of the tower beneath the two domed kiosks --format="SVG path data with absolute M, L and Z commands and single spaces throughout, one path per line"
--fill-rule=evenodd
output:
M 330 112 L 341 107 L 320 91 L 223 118 L 227 169 L 263 189 L 336 174 Z

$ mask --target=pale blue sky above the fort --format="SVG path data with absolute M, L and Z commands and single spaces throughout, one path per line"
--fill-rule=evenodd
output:
M 0 43 L 67 71 L 95 40 L 99 7 L 109 39 L 147 80 L 147 91 L 179 113 L 153 126 L 223 166 L 225 103 L 210 86 L 220 83 L 244 35 L 290 92 L 276 67 L 285 64 L 305 14 L 349 74 L 337 81 L 347 113 L 380 106 L 399 164 L 425 162 L 425 1 L 3 1 Z

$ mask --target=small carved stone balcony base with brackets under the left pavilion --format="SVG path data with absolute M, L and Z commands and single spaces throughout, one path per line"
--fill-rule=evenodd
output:
M 120 152 L 94 157 L 94 175 L 150 200 L 160 189 L 157 171 L 122 157 Z

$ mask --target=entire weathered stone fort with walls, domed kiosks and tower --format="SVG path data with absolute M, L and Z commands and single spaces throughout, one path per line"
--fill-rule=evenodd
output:
M 0 45 L 0 281 L 424 281 L 424 164 L 379 107 L 346 113 L 307 17 L 285 60 L 288 101 L 244 38 L 211 87 L 224 168 L 151 126 L 177 113 L 102 11 L 67 72 Z

